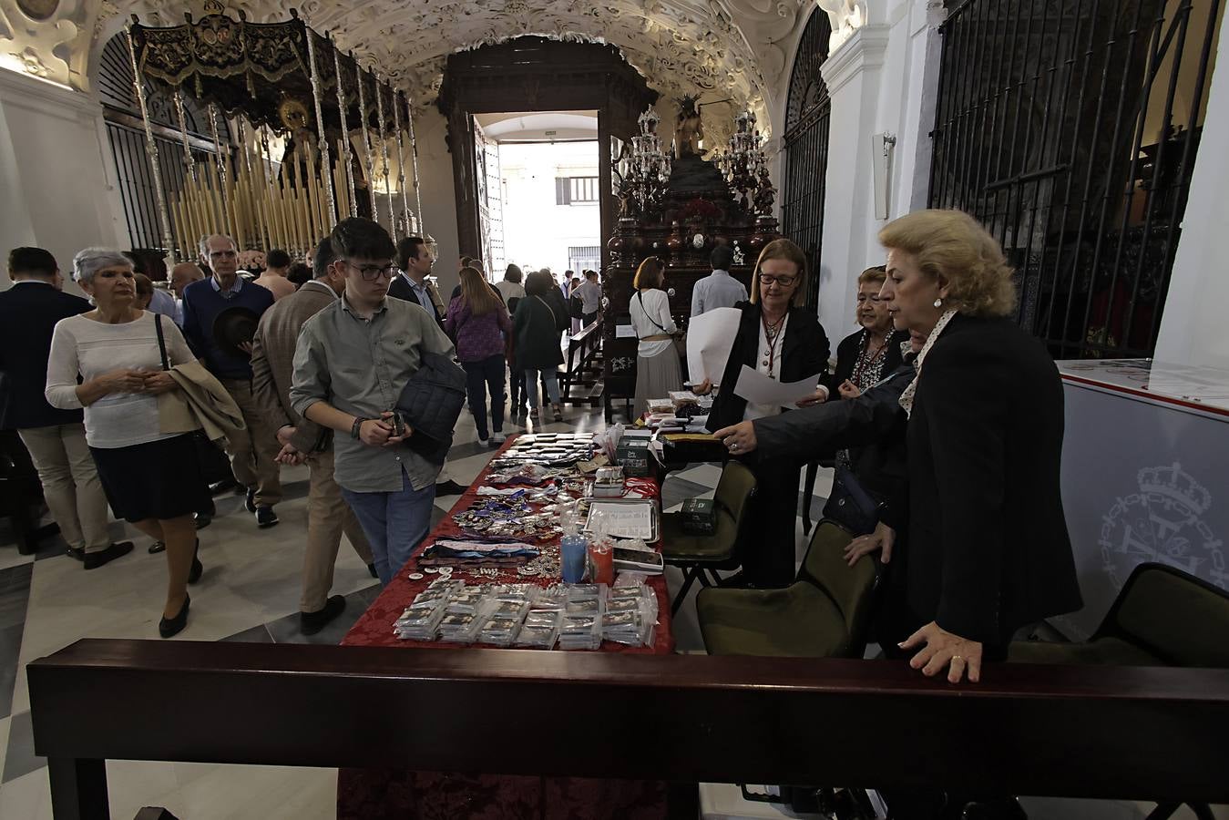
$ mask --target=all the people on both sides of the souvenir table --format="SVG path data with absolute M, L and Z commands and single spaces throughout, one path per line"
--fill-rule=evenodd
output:
M 880 644 L 927 674 L 976 681 L 1018 629 L 1080 605 L 1058 487 L 1061 382 L 1010 320 L 1011 270 L 973 219 L 918 211 L 880 241 L 886 264 L 859 275 L 859 329 L 836 345 L 834 365 L 805 306 L 801 248 L 769 242 L 748 293 L 719 246 L 692 315 L 735 309 L 737 331 L 720 380 L 691 387 L 713 395 L 709 429 L 758 482 L 762 537 L 736 583 L 793 580 L 800 468 L 831 462 L 832 495 L 848 504 L 826 514 L 858 536 L 847 558 L 875 553 L 892 570 Z M 86 300 L 61 293 L 48 252 L 12 251 L 0 423 L 21 432 L 70 554 L 93 569 L 133 550 L 109 541 L 109 504 L 165 547 L 160 632 L 179 632 L 203 572 L 197 529 L 219 489 L 206 475 L 213 439 L 258 527 L 278 522 L 280 467 L 308 466 L 305 632 L 344 607 L 329 595 L 343 534 L 387 583 L 425 536 L 436 494 L 461 489 L 445 472 L 451 429 L 406 428 L 407 402 L 422 401 L 407 384 L 458 360 L 478 439 L 498 445 L 526 417 L 562 419 L 562 334 L 602 310 L 594 272 L 560 284 L 511 264 L 492 283 L 481 259 L 463 257 L 445 301 L 433 263 L 422 239 L 393 245 L 375 223 L 347 219 L 297 286 L 289 256 L 270 251 L 247 279 L 235 242 L 215 235 L 167 289 L 138 269 L 147 261 L 81 251 L 73 277 Z M 683 387 L 665 273 L 656 257 L 635 273 L 637 416 Z M 815 376 L 815 388 L 788 408 L 750 402 L 736 388 L 744 368 L 782 382 Z M 173 423 L 179 396 L 200 430 Z

